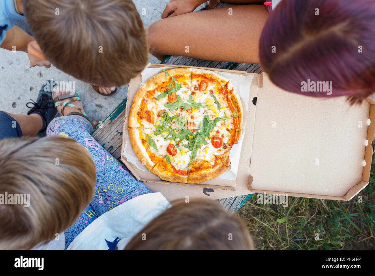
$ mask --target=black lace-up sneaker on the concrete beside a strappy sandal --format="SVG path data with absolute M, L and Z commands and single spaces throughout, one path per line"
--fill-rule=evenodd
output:
M 39 137 L 46 136 L 48 124 L 57 114 L 57 109 L 55 108 L 55 103 L 53 102 L 52 98 L 52 91 L 53 87 L 49 86 L 49 81 L 45 81 L 42 88 L 39 90 L 36 102 L 30 99 L 31 102 L 26 104 L 26 106 L 30 108 L 27 115 L 30 115 L 33 112 L 38 112 L 44 118 L 43 128 L 37 134 Z M 32 104 L 33 106 L 30 107 L 28 104 Z

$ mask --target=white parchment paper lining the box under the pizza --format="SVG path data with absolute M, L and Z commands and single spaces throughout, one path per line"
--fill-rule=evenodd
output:
M 146 68 L 142 71 L 142 82 L 139 84 L 139 87 L 141 87 L 148 79 L 153 77 L 154 75 L 162 72 L 162 69 L 168 70 L 175 67 L 171 66 L 164 66 L 159 68 Z M 242 107 L 243 107 L 243 126 L 242 126 L 242 133 L 245 133 L 245 126 L 246 126 L 246 119 L 247 119 L 247 113 L 248 113 L 248 104 L 249 104 L 249 94 L 250 94 L 250 84 L 253 80 L 254 75 L 238 75 L 228 72 L 219 72 L 210 70 L 213 72 L 216 72 L 217 74 L 223 75 L 224 77 L 228 78 L 233 87 L 234 90 L 237 91 L 237 93 L 240 95 L 241 101 L 242 101 Z M 129 103 L 130 104 L 130 103 Z M 135 152 L 133 151 L 132 144 L 130 143 L 130 137 L 129 132 L 126 131 L 126 143 L 124 146 L 124 157 L 126 157 L 127 161 L 134 164 L 138 169 L 147 171 L 148 169 L 142 165 L 141 161 L 139 161 L 138 157 L 136 156 Z M 225 172 L 223 172 L 221 175 L 217 176 L 220 179 L 228 179 L 228 180 L 234 180 L 237 178 L 237 172 L 238 172 L 238 166 L 240 161 L 240 153 L 242 148 L 242 142 L 243 142 L 243 134 L 242 137 L 239 139 L 238 143 L 232 146 L 232 149 L 229 153 L 229 160 L 231 161 L 231 166 L 229 169 L 227 169 Z

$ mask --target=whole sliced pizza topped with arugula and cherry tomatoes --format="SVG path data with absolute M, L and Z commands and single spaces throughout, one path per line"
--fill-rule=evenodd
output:
M 204 69 L 163 69 L 133 98 L 128 130 L 135 154 L 150 172 L 193 184 L 230 166 L 242 120 L 241 99 L 226 77 Z

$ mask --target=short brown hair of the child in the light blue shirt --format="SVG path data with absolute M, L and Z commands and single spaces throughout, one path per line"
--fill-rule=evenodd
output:
M 148 62 L 131 0 L 24 0 L 30 32 L 58 69 L 99 86 L 122 86 Z

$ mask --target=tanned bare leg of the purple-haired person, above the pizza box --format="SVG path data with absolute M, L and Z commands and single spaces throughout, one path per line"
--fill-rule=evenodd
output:
M 159 59 L 171 54 L 259 63 L 259 39 L 268 16 L 264 5 L 241 5 L 165 18 L 148 27 L 150 53 Z

